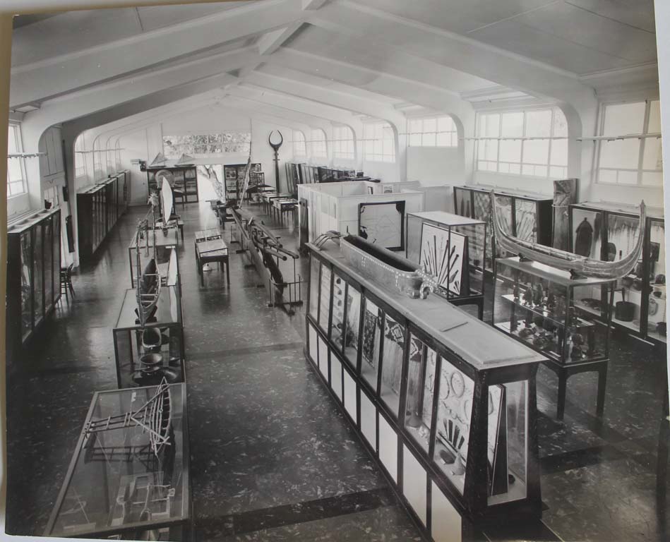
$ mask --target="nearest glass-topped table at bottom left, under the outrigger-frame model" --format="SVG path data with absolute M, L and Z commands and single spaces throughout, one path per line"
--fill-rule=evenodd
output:
M 96 423 L 126 413 L 141 419 L 142 407 L 156 392 L 152 386 L 93 395 L 44 536 L 186 538 L 191 522 L 186 385 L 169 385 L 159 397 L 169 423 L 160 431 L 167 442 L 157 453 L 150 433 L 132 420 L 107 430 Z

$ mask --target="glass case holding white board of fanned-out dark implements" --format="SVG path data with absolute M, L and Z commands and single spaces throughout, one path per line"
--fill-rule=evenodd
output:
M 407 213 L 407 259 L 437 277 L 436 293 L 484 312 L 486 222 L 443 211 Z

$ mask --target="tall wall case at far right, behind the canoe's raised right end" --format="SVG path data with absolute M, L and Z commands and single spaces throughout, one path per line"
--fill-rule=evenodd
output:
M 570 246 L 576 254 L 614 261 L 630 253 L 640 231 L 634 205 L 585 202 L 570 205 Z M 635 337 L 666 344 L 665 248 L 663 210 L 647 207 L 645 243 L 638 264 L 616 283 L 611 323 Z M 604 291 L 594 289 L 576 301 L 582 311 L 606 318 Z M 626 307 L 616 311 L 616 306 Z

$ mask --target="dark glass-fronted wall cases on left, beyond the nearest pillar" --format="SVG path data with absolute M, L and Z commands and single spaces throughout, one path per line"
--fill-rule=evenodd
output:
M 125 171 L 77 193 L 79 258 L 90 258 L 128 207 L 129 176 Z

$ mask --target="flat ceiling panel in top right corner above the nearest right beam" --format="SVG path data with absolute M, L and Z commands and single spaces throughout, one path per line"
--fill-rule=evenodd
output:
M 652 0 L 357 0 L 580 75 L 656 60 Z

